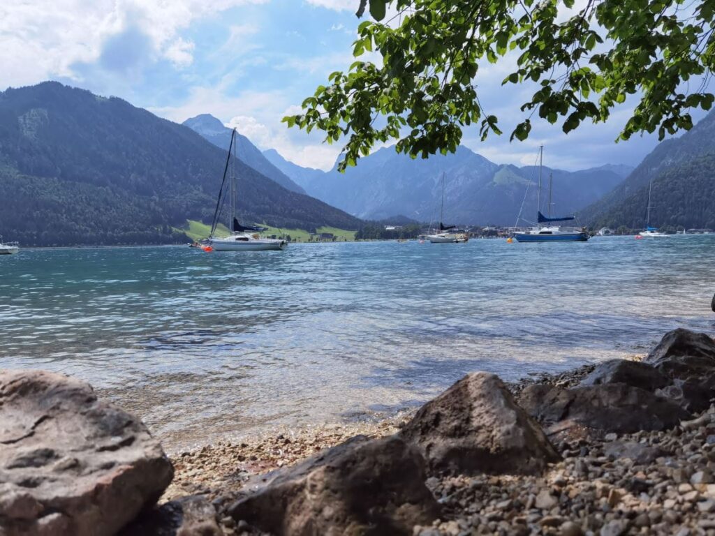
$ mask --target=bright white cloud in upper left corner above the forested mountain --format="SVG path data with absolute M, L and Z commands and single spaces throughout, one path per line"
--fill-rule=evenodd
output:
M 26 0 L 0 2 L 2 83 L 20 86 L 48 78 L 80 79 L 77 65 L 98 61 L 108 39 L 132 29 L 152 56 L 183 67 L 193 44 L 179 31 L 195 19 L 268 0 Z M 149 54 L 144 54 L 148 56 Z

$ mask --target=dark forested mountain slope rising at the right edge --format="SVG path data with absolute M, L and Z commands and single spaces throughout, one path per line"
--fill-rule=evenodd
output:
M 661 142 L 618 187 L 583 210 L 593 226 L 631 229 L 646 223 L 653 180 L 651 224 L 715 228 L 715 112 L 679 138 Z M 712 203 L 710 202 L 712 201 Z

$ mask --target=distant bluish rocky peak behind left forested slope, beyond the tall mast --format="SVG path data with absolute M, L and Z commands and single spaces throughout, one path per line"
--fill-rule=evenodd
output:
M 228 150 L 231 143 L 231 129 L 209 114 L 201 114 L 187 119 L 182 124 L 195 132 L 201 134 L 212 144 L 221 149 Z M 236 156 L 257 172 L 265 175 L 274 182 L 277 182 L 285 189 L 299 194 L 305 194 L 305 190 L 295 184 L 273 164 L 268 162 L 260 149 L 250 142 L 250 139 L 236 132 Z

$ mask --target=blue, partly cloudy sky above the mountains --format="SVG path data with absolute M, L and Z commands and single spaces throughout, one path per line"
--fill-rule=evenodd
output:
M 0 90 L 61 81 L 182 122 L 212 114 L 237 126 L 261 149 L 277 149 L 306 167 L 330 169 L 340 144 L 320 133 L 287 129 L 335 70 L 352 62 L 358 0 L 13 0 L 0 2 Z M 506 61 L 478 75 L 480 101 L 505 132 L 463 144 L 498 164 L 585 169 L 636 166 L 658 143 L 655 135 L 614 142 L 633 103 L 606 124 L 586 124 L 566 136 L 561 126 L 534 124 L 526 142 L 509 142 L 526 88 L 503 87 Z M 702 114 L 694 115 L 696 119 Z

